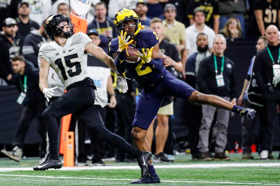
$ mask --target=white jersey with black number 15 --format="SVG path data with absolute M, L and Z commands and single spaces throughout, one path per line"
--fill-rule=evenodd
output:
M 42 44 L 39 56 L 50 63 L 66 89 L 72 83 L 82 81 L 87 75 L 88 55 L 84 48 L 92 40 L 79 32 L 69 37 L 64 47 L 55 41 Z

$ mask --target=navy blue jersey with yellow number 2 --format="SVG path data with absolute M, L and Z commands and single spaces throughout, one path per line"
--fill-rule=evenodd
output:
M 116 53 L 119 47 L 118 37 L 113 39 L 109 43 L 109 52 Z M 158 37 L 155 32 L 150 30 L 142 30 L 138 33 L 136 38 L 137 48 L 142 53 L 142 48 L 150 49 L 158 43 Z M 132 44 L 130 44 L 133 46 Z M 157 81 L 163 74 L 165 74 L 166 69 L 163 67 L 161 72 L 158 72 L 154 67 L 150 67 L 145 61 L 141 60 L 137 63 L 126 63 L 125 68 L 133 76 L 133 78 L 140 83 L 143 87 L 147 87 Z

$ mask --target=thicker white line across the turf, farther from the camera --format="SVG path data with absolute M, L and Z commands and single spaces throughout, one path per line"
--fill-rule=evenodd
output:
M 279 163 L 217 163 L 217 164 L 168 164 L 168 165 L 155 165 L 156 169 L 170 169 L 170 168 L 220 168 L 220 167 L 280 167 Z M 73 170 L 101 170 L 101 169 L 139 169 L 139 166 L 85 166 L 85 167 L 62 167 L 61 171 Z M 0 171 L 30 171 L 32 167 L 6 167 L 0 168 Z

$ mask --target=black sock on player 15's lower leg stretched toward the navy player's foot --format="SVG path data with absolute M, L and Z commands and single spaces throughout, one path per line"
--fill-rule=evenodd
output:
M 111 133 L 104 125 L 98 125 L 92 129 L 94 135 L 100 140 L 110 144 L 111 146 L 120 149 L 132 155 L 134 158 L 139 159 L 142 152 L 136 149 L 131 144 L 127 143 L 122 137 Z

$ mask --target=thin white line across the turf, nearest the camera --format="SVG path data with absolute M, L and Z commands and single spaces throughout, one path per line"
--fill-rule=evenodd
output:
M 0 176 L 16 176 L 16 177 L 33 177 L 33 178 L 63 178 L 63 179 L 81 179 L 81 180 L 121 180 L 134 181 L 132 179 L 118 179 L 118 178 L 78 178 L 78 177 L 62 177 L 62 176 L 29 176 L 29 175 L 15 175 L 15 174 L 0 174 Z M 238 183 L 238 182 L 213 182 L 213 181 L 171 181 L 160 180 L 161 182 L 176 182 L 176 183 L 218 183 L 218 184 L 240 184 L 240 185 L 280 185 L 280 183 Z

